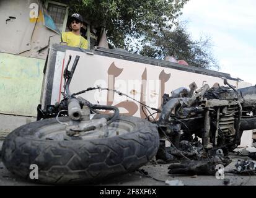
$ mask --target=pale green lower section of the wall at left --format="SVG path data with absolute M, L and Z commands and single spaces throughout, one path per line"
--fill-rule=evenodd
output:
M 0 113 L 37 116 L 45 60 L 0 53 Z

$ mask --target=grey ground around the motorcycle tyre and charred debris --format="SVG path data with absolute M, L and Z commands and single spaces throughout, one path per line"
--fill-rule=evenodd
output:
M 238 159 L 245 159 L 246 157 L 241 157 L 236 154 L 230 156 L 232 158 L 232 163 L 225 168 L 225 171 L 229 171 L 235 168 L 235 163 Z M 111 185 L 111 186 L 165 186 L 166 180 L 169 181 L 179 181 L 179 184 L 185 186 L 224 186 L 223 179 L 216 179 L 214 176 L 172 176 L 168 174 L 168 164 L 166 165 L 153 165 L 149 163 L 140 168 L 144 172 L 148 173 L 145 176 L 139 171 L 133 173 L 124 174 L 116 178 L 104 181 L 100 185 Z M 225 180 L 227 179 L 229 183 L 228 186 L 252 186 L 256 185 L 256 176 L 238 176 L 236 174 L 225 173 Z M 178 181 L 177 181 L 178 180 Z M 30 186 L 38 185 L 35 183 L 30 183 L 24 179 L 17 178 L 15 175 L 11 174 L 3 165 L 0 158 L 0 186 Z

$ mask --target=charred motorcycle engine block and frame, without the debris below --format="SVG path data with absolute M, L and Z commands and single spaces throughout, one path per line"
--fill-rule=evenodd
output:
M 226 84 L 229 85 L 228 82 Z M 166 130 L 172 144 L 175 142 L 175 147 L 179 147 L 179 144 L 177 137 L 173 136 L 173 130 L 175 124 L 180 124 L 180 131 L 183 133 L 179 137 L 180 140 L 192 141 L 193 135 L 202 139 L 203 148 L 206 150 L 219 148 L 233 150 L 240 144 L 244 130 L 256 128 L 256 117 L 253 116 L 255 113 L 249 116 L 255 108 L 254 106 L 244 108 L 245 100 L 241 97 L 254 93 L 254 88 L 245 88 L 241 91 L 231 85 L 209 88 L 205 84 L 192 97 L 187 98 L 179 98 L 186 94 L 189 96 L 187 90 L 184 92 L 184 88 L 177 89 L 172 97 L 164 95 L 165 105 L 162 108 L 159 124 Z M 179 150 L 174 149 L 170 154 L 174 153 L 179 153 Z M 185 154 L 186 151 L 183 153 Z M 186 155 L 189 156 L 189 152 Z

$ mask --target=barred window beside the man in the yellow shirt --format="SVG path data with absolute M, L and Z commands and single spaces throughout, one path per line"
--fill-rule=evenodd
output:
M 46 1 L 45 6 L 47 8 L 48 14 L 55 22 L 56 27 L 60 32 L 66 31 L 66 24 L 68 22 L 68 7 L 66 4 L 61 4 L 55 1 Z

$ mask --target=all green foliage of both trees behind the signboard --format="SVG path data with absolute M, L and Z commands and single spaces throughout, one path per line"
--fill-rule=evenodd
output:
M 163 59 L 174 56 L 197 67 L 218 67 L 210 38 L 193 41 L 177 17 L 188 0 L 71 0 L 71 12 L 105 27 L 110 48 Z M 176 26 L 175 30 L 173 26 Z

